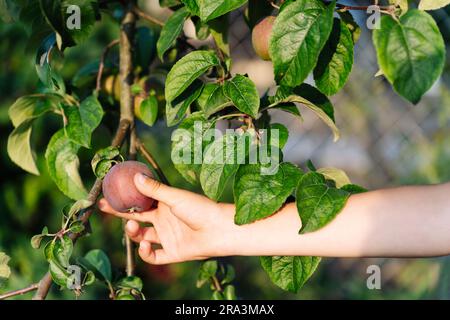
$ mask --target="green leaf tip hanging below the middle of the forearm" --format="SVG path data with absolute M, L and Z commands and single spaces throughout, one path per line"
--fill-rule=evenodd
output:
M 283 290 L 298 292 L 320 263 L 318 257 L 261 257 L 270 280 Z

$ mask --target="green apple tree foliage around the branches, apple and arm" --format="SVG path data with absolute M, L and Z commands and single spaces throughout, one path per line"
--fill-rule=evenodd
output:
M 71 277 L 68 268 L 76 264 L 84 270 L 83 281 L 70 289 L 81 292 L 97 279 L 117 299 L 141 298 L 142 281 L 136 276 L 117 280 L 108 257 L 99 249 L 83 257 L 72 256 L 72 235 L 91 232 L 82 217 L 95 203 L 95 199 L 88 199 L 89 189 L 79 172 L 78 154 L 81 149 L 94 147 L 92 133 L 106 121 L 108 113 L 109 118 L 117 117 L 104 107 L 107 102 L 119 103 L 115 97 L 117 92 L 96 88 L 93 75 L 98 72 L 99 61 L 86 61 L 74 79 L 63 79 L 53 66 L 52 57 L 87 39 L 94 25 L 102 23 L 106 16 L 120 23 L 130 2 L 0 1 L 3 15 L 29 27 L 30 46 L 36 52 L 36 72 L 40 79 L 36 92 L 18 98 L 9 109 L 14 126 L 8 138 L 9 156 L 30 174 L 39 175 L 40 171 L 47 170 L 59 190 L 74 201 L 62 213 L 62 229 L 51 233 L 44 227 L 41 234 L 33 237 L 32 245 L 39 248 L 45 241 L 44 255 L 57 285 L 68 286 Z M 441 75 L 445 60 L 442 35 L 427 10 L 439 9 L 450 1 L 421 0 L 418 7 L 409 7 L 406 0 L 389 3 L 389 10 L 381 11 L 379 28 L 373 30 L 380 73 L 395 92 L 416 104 Z M 228 121 L 243 133 L 242 137 L 225 134 L 202 141 L 202 163 L 176 163 L 181 176 L 200 185 L 205 195 L 216 201 L 220 201 L 230 184 L 236 204 L 235 223 L 239 225 L 269 217 L 287 202 L 295 201 L 302 220 L 299 236 L 326 226 L 352 194 L 365 191 L 353 185 L 342 170 L 315 168 L 311 162 L 302 170 L 284 162 L 282 148 L 288 129 L 270 121 L 272 112 L 287 112 L 301 119 L 302 108 L 307 108 L 330 128 L 334 140 L 339 139 L 329 96 L 342 90 L 352 71 L 354 46 L 360 36 L 352 10 L 347 10 L 340 1 L 322 0 L 274 1 L 274 6 L 257 0 L 160 0 L 160 4 L 172 11 L 167 21 L 161 26 L 145 24 L 145 19 L 138 15 L 143 23 L 132 39 L 135 77 L 132 93 L 142 98 L 134 110 L 137 118 L 148 126 L 164 119 L 167 127 L 191 131 L 196 122 L 201 122 L 203 128 L 214 128 L 219 121 Z M 68 10 L 71 5 L 80 8 L 80 29 L 66 26 L 72 14 Z M 273 94 L 260 96 L 251 78 L 231 73 L 233 60 L 228 30 L 230 14 L 235 10 L 244 10 L 249 31 L 264 16 L 276 16 L 269 42 L 277 84 Z M 198 39 L 212 41 L 197 47 L 190 44 L 183 34 L 183 25 L 188 20 L 195 25 Z M 110 64 L 105 77 L 118 74 L 118 68 Z M 305 82 L 310 75 L 314 85 Z M 164 84 L 163 97 L 141 81 L 149 78 L 158 78 Z M 49 138 L 46 168 L 38 168 L 30 138 L 34 120 L 48 114 L 59 116 L 61 127 Z M 275 174 L 261 174 L 267 164 L 259 160 L 251 164 L 207 161 L 233 146 L 236 139 L 245 139 L 244 133 L 254 136 L 262 129 L 279 132 L 279 150 L 268 155 L 279 160 Z M 258 148 L 259 140 L 256 141 Z M 167 143 L 172 143 L 173 154 L 183 147 L 180 140 Z M 122 150 L 116 147 L 93 151 L 96 152 L 92 159 L 93 174 L 99 179 L 122 158 Z M 0 257 L 3 281 L 9 269 L 7 257 L 4 254 Z M 305 284 L 319 263 L 320 257 L 261 257 L 268 277 L 277 286 L 292 292 Z M 200 267 L 197 285 L 211 284 L 214 299 L 234 299 L 236 294 L 230 284 L 233 276 L 231 266 L 208 260 Z

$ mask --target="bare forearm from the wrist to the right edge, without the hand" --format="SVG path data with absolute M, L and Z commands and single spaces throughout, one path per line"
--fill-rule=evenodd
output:
M 350 197 L 326 227 L 298 234 L 295 204 L 228 233 L 231 255 L 418 257 L 450 254 L 450 184 Z

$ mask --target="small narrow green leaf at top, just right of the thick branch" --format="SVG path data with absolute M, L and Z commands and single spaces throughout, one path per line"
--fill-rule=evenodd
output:
M 184 22 L 189 15 L 190 13 L 187 8 L 182 7 L 175 11 L 162 27 L 161 34 L 156 43 L 156 50 L 161 61 L 164 61 L 164 53 L 175 44 L 176 39 L 183 30 Z

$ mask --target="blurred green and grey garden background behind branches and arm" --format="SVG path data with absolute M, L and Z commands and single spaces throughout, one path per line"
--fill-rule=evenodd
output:
M 447 44 L 450 43 L 450 10 L 435 13 Z M 360 17 L 362 19 L 362 17 Z M 249 46 L 249 31 L 242 27 L 240 13 L 232 16 L 230 32 L 235 71 L 245 65 L 250 76 L 265 72 L 266 62 L 257 60 Z M 362 20 L 363 21 L 363 20 Z M 98 60 L 105 45 L 117 38 L 118 27 L 105 16 L 97 24 L 88 41 L 65 51 L 59 70 L 67 82 L 79 70 Z M 27 46 L 29 34 L 20 23 L 0 22 L 0 251 L 10 257 L 12 276 L 6 292 L 27 286 L 47 271 L 42 250 L 30 246 L 30 238 L 48 226 L 58 230 L 61 212 L 68 199 L 50 180 L 43 159 L 45 146 L 51 135 L 61 126 L 59 118 L 47 116 L 34 127 L 41 176 L 32 176 L 15 166 L 6 153 L 6 143 L 12 125 L 8 108 L 16 98 L 37 92 L 38 78 L 34 67 L 34 51 Z M 292 134 L 286 146 L 288 160 L 299 165 L 312 159 L 318 166 L 336 166 L 347 171 L 357 183 L 369 188 L 401 184 L 438 183 L 450 180 L 450 58 L 439 83 L 417 106 L 398 98 L 377 71 L 370 33 L 364 30 L 356 48 L 355 67 L 345 90 L 333 98 L 338 126 L 342 129 L 340 142 L 333 144 L 329 133 L 305 115 L 305 122 L 274 114 L 279 122 L 289 126 Z M 113 53 L 114 54 L 114 53 Z M 62 63 L 63 62 L 63 63 Z M 252 64 L 254 63 L 254 64 Z M 270 63 L 269 63 L 270 64 Z M 253 68 L 253 69 L 252 69 Z M 264 79 L 273 75 L 267 72 Z M 272 84 L 263 81 L 263 91 Z M 105 109 L 115 110 L 114 104 Z M 106 146 L 111 137 L 109 123 L 94 133 L 94 145 Z M 164 122 L 153 128 L 138 124 L 145 144 L 161 164 L 169 181 L 179 187 L 188 186 L 170 162 L 170 130 Z M 93 182 L 90 159 L 93 150 L 80 154 L 81 172 L 86 185 Z M 225 195 L 224 200 L 230 200 Z M 92 234 L 77 244 L 74 257 L 94 248 L 103 249 L 110 257 L 116 275 L 124 272 L 124 248 L 121 222 L 95 213 Z M 319 270 L 298 294 L 285 293 L 273 284 L 259 266 L 258 258 L 233 257 L 224 259 L 236 269 L 238 296 L 243 299 L 430 299 L 449 298 L 449 258 L 436 259 L 324 259 Z M 380 265 L 382 289 L 368 290 L 366 269 Z M 148 299 L 208 299 L 210 290 L 195 287 L 199 263 L 170 266 L 149 266 L 138 262 L 138 275 L 144 280 Z M 29 299 L 31 295 L 17 297 Z M 68 291 L 53 287 L 50 299 L 74 299 Z M 100 284 L 89 287 L 80 299 L 107 299 L 108 291 Z

